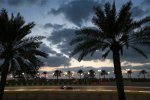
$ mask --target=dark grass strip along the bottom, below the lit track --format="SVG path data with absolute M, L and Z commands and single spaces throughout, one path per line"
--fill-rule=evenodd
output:
M 126 92 L 127 100 L 149 100 L 150 93 Z M 5 91 L 4 100 L 117 100 L 115 91 Z

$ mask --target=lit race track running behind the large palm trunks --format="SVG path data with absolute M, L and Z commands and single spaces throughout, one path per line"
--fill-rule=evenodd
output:
M 13 91 L 116 91 L 115 86 L 70 86 L 73 89 L 60 89 L 61 86 L 20 86 L 6 87 L 5 92 Z M 150 93 L 150 87 L 125 86 L 125 92 Z

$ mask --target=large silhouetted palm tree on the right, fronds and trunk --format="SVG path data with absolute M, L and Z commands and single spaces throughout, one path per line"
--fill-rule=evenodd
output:
M 125 100 L 123 76 L 120 64 L 120 55 L 129 47 L 147 57 L 139 46 L 149 46 L 150 27 L 144 25 L 150 21 L 150 17 L 141 20 L 133 20 L 131 1 L 116 11 L 115 2 L 105 4 L 104 9 L 94 7 L 95 16 L 92 22 L 96 26 L 85 27 L 77 30 L 76 37 L 70 42 L 75 48 L 70 56 L 79 53 L 81 61 L 86 55 L 93 55 L 102 50 L 102 57 L 106 58 L 112 52 L 114 72 L 119 100 Z

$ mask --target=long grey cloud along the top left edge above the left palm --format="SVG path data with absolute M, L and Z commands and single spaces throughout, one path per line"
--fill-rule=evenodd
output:
M 1 0 L 3 1 L 3 0 Z M 48 0 L 6 0 L 2 3 L 7 3 L 10 6 L 22 6 L 22 5 L 39 5 L 43 6 Z

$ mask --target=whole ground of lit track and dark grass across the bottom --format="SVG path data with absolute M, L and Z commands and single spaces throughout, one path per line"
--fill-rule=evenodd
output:
M 60 86 L 7 87 L 4 100 L 117 100 L 114 86 Z M 149 100 L 150 87 L 126 86 L 127 100 Z

